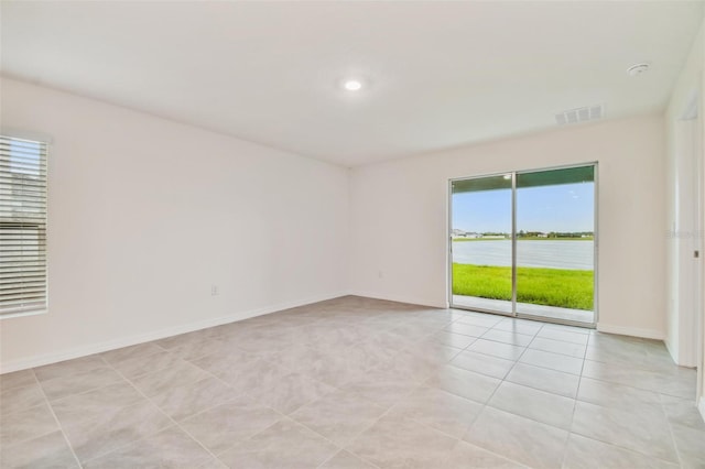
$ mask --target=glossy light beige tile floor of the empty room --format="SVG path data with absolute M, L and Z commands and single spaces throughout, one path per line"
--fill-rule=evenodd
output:
M 703 468 L 662 342 L 361 297 L 0 377 L 3 468 Z

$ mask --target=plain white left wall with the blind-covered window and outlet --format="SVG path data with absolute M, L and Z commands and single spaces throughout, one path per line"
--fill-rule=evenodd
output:
M 0 320 L 3 372 L 345 292 L 348 170 L 1 87 L 4 128 L 53 138 L 50 312 Z

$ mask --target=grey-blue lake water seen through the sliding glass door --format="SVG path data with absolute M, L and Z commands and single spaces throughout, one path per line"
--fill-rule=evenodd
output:
M 592 271 L 593 241 L 517 241 L 517 265 Z M 511 266 L 511 240 L 458 241 L 453 243 L 453 262 Z

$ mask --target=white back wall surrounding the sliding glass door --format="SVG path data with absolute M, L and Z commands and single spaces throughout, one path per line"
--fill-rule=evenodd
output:
M 351 291 L 445 306 L 449 178 L 598 161 L 598 327 L 663 338 L 664 150 L 647 116 L 356 167 Z

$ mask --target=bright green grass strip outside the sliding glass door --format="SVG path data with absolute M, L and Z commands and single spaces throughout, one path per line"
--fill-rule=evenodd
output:
M 453 294 L 511 301 L 511 268 L 454 263 Z M 593 271 L 517 268 L 517 301 L 593 310 Z

